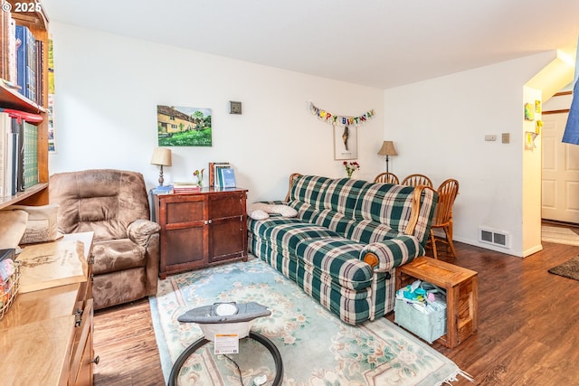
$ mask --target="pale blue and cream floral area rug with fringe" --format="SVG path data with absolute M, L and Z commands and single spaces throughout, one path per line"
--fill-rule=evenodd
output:
M 440 385 L 468 375 L 441 353 L 380 318 L 364 325 L 341 322 L 275 269 L 250 257 L 238 262 L 178 274 L 159 281 L 150 297 L 151 313 L 168 380 L 178 356 L 203 336 L 194 323 L 176 319 L 196 306 L 215 302 L 257 302 L 271 316 L 254 320 L 252 331 L 271 340 L 283 361 L 283 385 Z M 257 376 L 275 378 L 271 354 L 252 339 L 240 341 L 231 357 L 244 385 Z M 213 343 L 189 357 L 177 384 L 239 385 L 239 372 Z

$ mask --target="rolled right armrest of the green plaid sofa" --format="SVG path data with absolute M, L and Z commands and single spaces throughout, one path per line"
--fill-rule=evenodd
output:
M 375 272 L 386 272 L 424 255 L 424 248 L 414 236 L 404 235 L 395 239 L 373 242 L 360 252 L 360 259 Z

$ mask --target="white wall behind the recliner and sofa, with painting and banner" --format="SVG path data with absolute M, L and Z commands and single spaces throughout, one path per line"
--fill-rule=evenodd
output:
M 355 177 L 384 168 L 384 90 L 327 80 L 153 42 L 51 24 L 57 154 L 50 174 L 90 168 L 135 170 L 157 185 L 157 104 L 213 108 L 212 147 L 172 147 L 166 182 L 193 181 L 212 161 L 233 163 L 248 201 L 282 199 L 289 174 L 346 176 L 334 160 L 333 130 L 306 101 L 339 115 L 375 109 L 358 129 Z M 230 115 L 229 100 L 243 114 Z M 205 173 L 205 184 L 208 174 Z

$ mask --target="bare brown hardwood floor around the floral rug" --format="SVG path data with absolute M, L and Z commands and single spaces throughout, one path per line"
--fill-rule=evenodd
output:
M 433 344 L 474 384 L 579 385 L 579 281 L 547 272 L 579 247 L 543 246 L 527 259 L 459 242 L 453 259 L 441 248 L 440 259 L 479 272 L 479 331 L 453 350 Z M 147 300 L 98 311 L 94 324 L 95 385 L 164 384 Z

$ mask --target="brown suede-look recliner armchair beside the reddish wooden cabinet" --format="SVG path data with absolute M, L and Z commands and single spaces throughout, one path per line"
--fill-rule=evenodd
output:
M 150 221 L 143 175 L 97 169 L 52 174 L 51 203 L 62 233 L 94 232 L 95 309 L 157 293 L 159 230 Z

